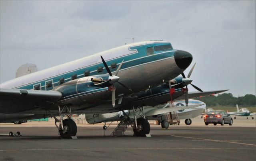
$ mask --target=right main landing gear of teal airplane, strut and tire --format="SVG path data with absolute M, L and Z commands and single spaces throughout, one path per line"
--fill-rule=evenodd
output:
M 136 110 L 140 110 L 139 114 L 136 113 Z M 134 115 L 134 126 L 133 132 L 136 136 L 146 136 L 150 132 L 150 124 L 148 120 L 146 120 L 144 116 L 144 109 L 143 107 L 138 106 L 136 109 L 133 107 L 133 115 Z M 138 118 L 141 116 L 141 118 Z M 137 119 L 138 118 L 138 119 Z

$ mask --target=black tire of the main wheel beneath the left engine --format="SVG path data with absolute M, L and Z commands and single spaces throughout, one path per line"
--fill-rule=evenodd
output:
M 67 118 L 63 120 L 62 123 L 63 123 L 63 128 L 66 127 L 67 131 L 64 132 L 63 130 L 59 130 L 61 138 L 68 139 L 71 136 L 76 136 L 77 127 L 76 127 L 76 123 L 73 120 Z

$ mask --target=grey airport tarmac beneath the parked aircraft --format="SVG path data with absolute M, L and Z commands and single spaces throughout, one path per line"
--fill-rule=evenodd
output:
M 247 127 L 238 123 L 244 121 Z M 105 137 L 102 125 L 78 125 L 78 139 L 59 139 L 56 127 L 43 126 L 50 122 L 0 124 L 0 134 L 10 131 L 22 134 L 0 136 L 0 160 L 256 159 L 256 128 L 251 118 L 237 118 L 234 126 L 203 126 L 201 118 L 192 119 L 190 126 L 182 120 L 180 126 L 170 126 L 168 130 L 151 125 L 151 137 L 134 137 L 131 128 L 124 137 Z M 110 126 L 106 134 L 112 130 L 114 126 Z

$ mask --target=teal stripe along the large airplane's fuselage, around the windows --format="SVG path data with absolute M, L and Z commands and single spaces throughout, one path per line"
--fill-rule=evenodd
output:
M 159 43 L 157 43 L 157 44 L 159 45 Z M 166 44 L 166 43 L 161 43 L 161 44 Z M 118 64 L 124 59 L 124 61 L 128 61 L 128 62 L 125 62 L 122 64 L 122 67 L 120 69 L 120 70 L 122 70 L 122 69 L 130 68 L 130 67 L 134 67 L 136 65 L 141 65 L 143 63 L 150 63 L 152 61 L 157 61 L 160 59 L 165 59 L 165 58 L 174 56 L 174 50 L 170 50 L 170 51 L 164 51 L 164 52 L 163 51 L 155 52 L 153 55 L 145 57 L 146 56 L 146 48 L 150 47 L 150 46 L 154 46 L 154 45 L 155 44 L 146 44 L 146 45 L 141 45 L 141 46 L 136 46 L 136 47 L 130 47 L 130 49 L 132 49 L 132 50 L 137 49 L 138 53 L 130 54 L 130 55 L 127 55 L 124 57 L 116 58 L 116 59 L 112 59 L 112 60 L 106 61 L 106 63 L 108 66 L 110 66 L 111 63 L 116 62 Z M 163 52 L 163 53 L 161 53 L 161 52 Z M 160 53 L 160 54 L 158 54 L 158 53 Z M 84 71 L 87 71 L 87 70 L 94 71 L 94 72 L 90 72 L 90 75 L 92 75 L 92 76 L 99 75 L 99 74 L 100 75 L 106 74 L 107 73 L 106 69 L 103 69 L 103 71 L 101 73 L 97 72 L 97 67 L 101 67 L 101 66 L 104 67 L 103 63 L 95 64 L 90 67 L 84 67 L 82 69 L 64 73 L 64 74 L 58 75 L 56 77 L 52 77 L 52 78 L 49 78 L 49 79 L 46 79 L 43 81 L 34 82 L 33 84 L 27 84 L 27 85 L 16 87 L 16 88 L 17 89 L 33 89 L 33 85 L 40 84 L 40 86 L 42 87 L 41 90 L 45 90 L 46 89 L 46 87 L 44 87 L 45 82 L 53 80 L 53 86 L 56 87 L 59 85 L 60 78 L 64 77 L 64 79 L 68 79 L 65 82 L 70 81 L 71 76 L 74 74 L 77 75 L 77 78 L 82 78 L 82 77 L 84 77 L 84 75 L 83 75 Z M 116 71 L 116 69 L 110 69 L 110 71 L 113 72 L 113 71 Z M 47 90 L 51 90 L 51 89 L 52 88 L 47 88 Z

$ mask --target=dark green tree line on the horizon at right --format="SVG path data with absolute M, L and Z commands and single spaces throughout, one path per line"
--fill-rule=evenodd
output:
M 234 97 L 231 93 L 223 93 L 218 94 L 218 96 L 212 95 L 195 99 L 206 103 L 207 106 L 235 106 L 236 104 L 242 106 L 256 106 L 256 96 L 253 94 Z

